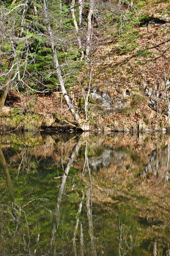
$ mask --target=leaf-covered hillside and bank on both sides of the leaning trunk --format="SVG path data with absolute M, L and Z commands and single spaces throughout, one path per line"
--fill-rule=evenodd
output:
M 92 130 L 167 130 L 170 127 L 170 3 L 122 2 L 107 25 L 94 16 L 91 58 L 79 67 L 68 94 Z M 107 10 L 109 15 L 109 10 Z M 101 21 L 100 21 L 100 24 Z M 169 106 L 169 107 L 168 107 Z M 11 90 L 1 125 L 24 129 L 72 128 L 61 93 Z

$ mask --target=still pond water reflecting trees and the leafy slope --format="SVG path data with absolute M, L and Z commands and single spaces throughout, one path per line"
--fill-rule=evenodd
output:
M 170 255 L 170 136 L 5 134 L 0 145 L 0 255 Z

